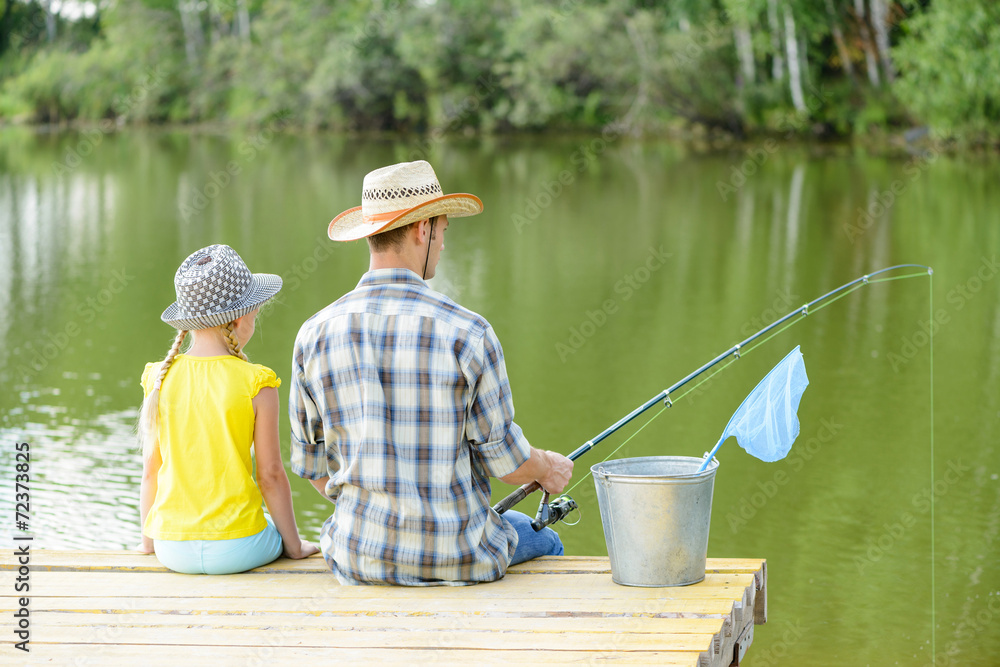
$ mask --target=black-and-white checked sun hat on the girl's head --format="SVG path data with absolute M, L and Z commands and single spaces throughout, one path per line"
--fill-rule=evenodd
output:
M 160 319 L 193 331 L 228 324 L 259 308 L 281 289 L 281 278 L 250 273 L 235 250 L 216 244 L 188 255 L 174 275 L 174 289 L 177 301 Z

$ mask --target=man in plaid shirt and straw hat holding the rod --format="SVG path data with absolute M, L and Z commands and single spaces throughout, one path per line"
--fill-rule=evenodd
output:
M 493 328 L 432 290 L 452 218 L 483 210 L 445 195 L 424 161 L 365 176 L 361 206 L 330 223 L 368 240 L 358 286 L 302 325 L 292 359 L 292 469 L 336 511 L 320 547 L 346 584 L 494 581 L 561 554 L 551 528 L 490 506 L 490 477 L 560 493 L 573 462 L 528 444 Z

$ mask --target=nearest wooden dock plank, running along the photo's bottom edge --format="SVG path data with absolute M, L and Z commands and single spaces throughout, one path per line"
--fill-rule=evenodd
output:
M 690 651 L 549 651 L 478 650 L 478 649 L 344 649 L 292 648 L 280 646 L 173 646 L 164 644 L 42 644 L 32 642 L 26 662 L 29 664 L 107 665 L 270 665 L 315 664 L 325 659 L 330 664 L 371 664 L 412 667 L 468 667 L 471 664 L 510 665 L 664 665 L 693 667 L 699 653 Z

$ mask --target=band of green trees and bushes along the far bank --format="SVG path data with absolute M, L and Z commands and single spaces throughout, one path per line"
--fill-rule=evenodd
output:
M 9 5 L 0 119 L 736 136 L 914 122 L 989 135 L 1000 120 L 1000 6 L 987 0 L 863 0 L 860 13 L 855 0 L 97 6 L 46 23 L 37 0 Z

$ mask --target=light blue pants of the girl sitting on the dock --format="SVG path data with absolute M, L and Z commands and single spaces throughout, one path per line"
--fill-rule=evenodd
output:
M 156 558 L 183 574 L 233 574 L 267 565 L 281 555 L 281 535 L 271 516 L 264 518 L 264 530 L 232 540 L 153 540 Z

